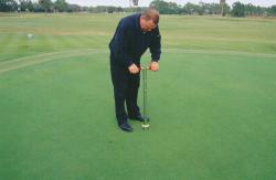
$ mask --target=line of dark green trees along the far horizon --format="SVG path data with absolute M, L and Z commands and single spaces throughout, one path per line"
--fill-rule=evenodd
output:
M 219 1 L 219 0 L 217 0 Z M 138 1 L 137 1 L 138 2 Z M 252 3 L 244 4 L 240 1 L 234 2 L 230 7 L 225 0 L 220 0 L 219 3 L 204 3 L 199 2 L 198 4 L 188 2 L 180 6 L 176 2 L 166 2 L 163 0 L 155 0 L 150 3 L 159 10 L 161 14 L 221 14 L 232 17 L 276 17 L 276 4 L 265 8 L 254 6 Z M 146 7 L 110 7 L 110 6 L 98 6 L 98 7 L 82 7 L 78 4 L 67 3 L 65 0 L 0 0 L 1 12 L 141 12 Z

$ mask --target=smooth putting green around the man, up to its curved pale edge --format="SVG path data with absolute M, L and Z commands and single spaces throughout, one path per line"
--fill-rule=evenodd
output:
M 1 179 L 276 177 L 274 54 L 164 50 L 150 129 L 132 134 L 116 126 L 106 50 L 2 63 Z

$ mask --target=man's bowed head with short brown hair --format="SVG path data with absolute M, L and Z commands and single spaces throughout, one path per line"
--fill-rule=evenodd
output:
M 147 8 L 142 13 L 140 18 L 140 27 L 142 31 L 151 31 L 153 30 L 159 22 L 159 12 L 150 7 Z

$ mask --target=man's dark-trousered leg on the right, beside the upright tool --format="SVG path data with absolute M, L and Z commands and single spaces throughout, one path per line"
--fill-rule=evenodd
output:
M 129 117 L 136 117 L 140 114 L 140 109 L 137 105 L 139 86 L 140 86 L 140 73 L 131 74 L 128 78 L 127 96 L 126 96 L 127 112 Z

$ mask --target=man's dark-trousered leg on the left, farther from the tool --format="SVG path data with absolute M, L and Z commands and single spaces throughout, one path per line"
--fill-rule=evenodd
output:
M 127 96 L 128 72 L 124 67 L 114 64 L 110 65 L 110 70 L 114 86 L 116 118 L 118 120 L 118 125 L 120 125 L 127 123 L 125 100 Z

